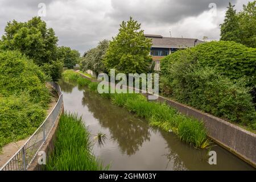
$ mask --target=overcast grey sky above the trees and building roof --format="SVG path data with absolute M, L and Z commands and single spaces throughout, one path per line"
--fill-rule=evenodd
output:
M 229 0 L 237 10 L 249 0 Z M 8 21 L 27 21 L 42 16 L 55 30 L 59 46 L 80 53 L 102 39 L 111 40 L 122 20 L 129 16 L 142 24 L 145 34 L 197 38 L 220 38 L 228 0 L 0 0 L 0 35 Z M 46 5 L 46 11 L 42 6 Z

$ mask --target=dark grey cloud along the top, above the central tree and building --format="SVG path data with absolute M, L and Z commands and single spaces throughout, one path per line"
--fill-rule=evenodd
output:
M 233 4 L 237 0 L 229 0 Z M 133 16 L 145 23 L 175 23 L 188 16 L 197 16 L 209 10 L 209 3 L 216 3 L 217 9 L 228 6 L 229 1 L 223 0 L 139 0 L 120 1 L 112 0 L 113 11 L 108 15 L 117 20 Z

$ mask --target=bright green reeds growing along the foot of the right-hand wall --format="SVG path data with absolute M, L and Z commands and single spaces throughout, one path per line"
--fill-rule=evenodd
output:
M 65 72 L 64 76 L 67 80 L 70 80 L 69 77 L 77 77 L 77 80 L 81 79 L 79 73 L 71 71 Z M 86 85 L 88 85 L 90 90 L 97 92 L 97 82 L 89 82 L 86 78 L 82 79 L 87 80 Z M 144 96 L 135 93 L 104 93 L 100 95 L 105 98 L 110 98 L 113 104 L 126 107 L 139 117 L 146 118 L 151 126 L 157 126 L 165 131 L 174 132 L 180 140 L 196 148 L 206 148 L 210 144 L 203 123 L 178 113 L 174 107 L 159 102 L 148 102 Z

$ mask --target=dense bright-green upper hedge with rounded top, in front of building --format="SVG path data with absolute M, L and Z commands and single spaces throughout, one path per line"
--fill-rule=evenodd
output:
M 246 77 L 247 86 L 256 85 L 256 48 L 225 41 L 199 44 L 164 57 L 161 61 L 162 74 L 168 76 L 170 69 L 167 69 L 172 63 L 186 59 L 193 60 L 200 67 L 215 68 L 232 80 Z

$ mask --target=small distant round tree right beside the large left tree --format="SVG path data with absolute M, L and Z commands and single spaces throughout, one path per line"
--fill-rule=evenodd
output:
M 64 63 L 64 67 L 72 69 L 79 63 L 80 53 L 70 47 L 61 46 L 57 50 L 57 57 Z

